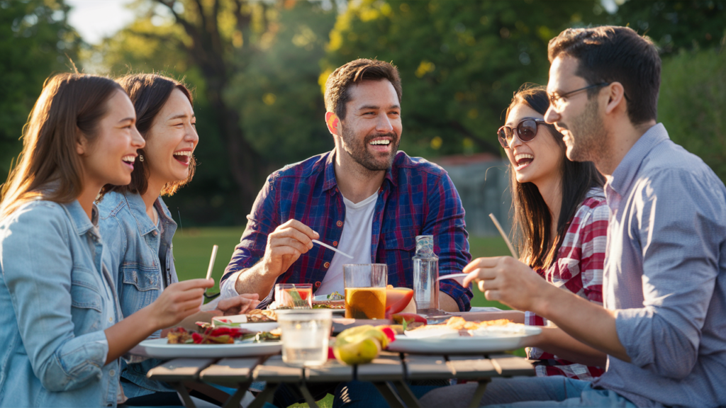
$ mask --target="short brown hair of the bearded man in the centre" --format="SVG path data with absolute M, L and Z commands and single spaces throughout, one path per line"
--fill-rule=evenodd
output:
M 379 60 L 360 58 L 348 62 L 333 71 L 325 82 L 325 109 L 338 115 L 342 121 L 346 118 L 346 103 L 351 100 L 348 88 L 354 83 L 363 81 L 388 80 L 396 89 L 401 103 L 401 77 L 399 70 L 391 63 Z

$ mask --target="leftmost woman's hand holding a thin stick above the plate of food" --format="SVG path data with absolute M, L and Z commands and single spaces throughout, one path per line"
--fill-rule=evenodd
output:
M 192 279 L 168 285 L 151 303 L 149 314 L 156 329 L 171 327 L 185 317 L 197 313 L 202 306 L 202 295 L 214 280 Z

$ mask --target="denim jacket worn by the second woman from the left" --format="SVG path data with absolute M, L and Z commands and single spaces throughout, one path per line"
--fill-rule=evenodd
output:
M 161 294 L 163 282 L 179 282 L 174 269 L 171 238 L 176 222 L 171 219 L 161 197 L 154 203 L 163 233 L 149 219 L 141 195 L 110 192 L 99 203 L 99 227 L 107 242 L 111 274 L 115 277 L 118 299 L 123 316 L 129 316 L 149 306 Z M 159 258 L 160 248 L 165 260 Z M 155 332 L 150 338 L 158 338 Z M 157 359 L 134 357 L 124 361 L 121 377 L 123 393 L 129 397 L 143 396 L 157 391 L 174 391 L 166 383 L 149 380 L 146 374 L 160 364 Z

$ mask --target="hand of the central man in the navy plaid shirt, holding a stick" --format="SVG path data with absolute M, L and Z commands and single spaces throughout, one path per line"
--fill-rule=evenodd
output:
M 261 262 L 264 272 L 274 278 L 284 274 L 303 253 L 313 248 L 312 240 L 319 237 L 317 232 L 295 219 L 275 228 L 267 237 L 267 247 Z

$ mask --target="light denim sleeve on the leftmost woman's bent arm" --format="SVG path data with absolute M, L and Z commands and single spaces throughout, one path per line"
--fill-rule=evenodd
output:
M 2 272 L 33 372 L 49 391 L 68 391 L 101 378 L 108 346 L 101 328 L 74 334 L 68 234 L 75 232 L 57 211 L 38 205 L 9 225 Z

